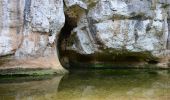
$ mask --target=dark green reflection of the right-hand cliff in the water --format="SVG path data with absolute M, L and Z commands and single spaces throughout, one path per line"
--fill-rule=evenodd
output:
M 55 98 L 57 100 L 169 100 L 170 74 L 167 70 L 74 71 L 63 78 Z

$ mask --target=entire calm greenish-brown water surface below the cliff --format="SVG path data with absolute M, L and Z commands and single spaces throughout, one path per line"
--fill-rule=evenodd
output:
M 23 79 L 1 78 L 0 100 L 170 100 L 169 70 L 74 70 Z

